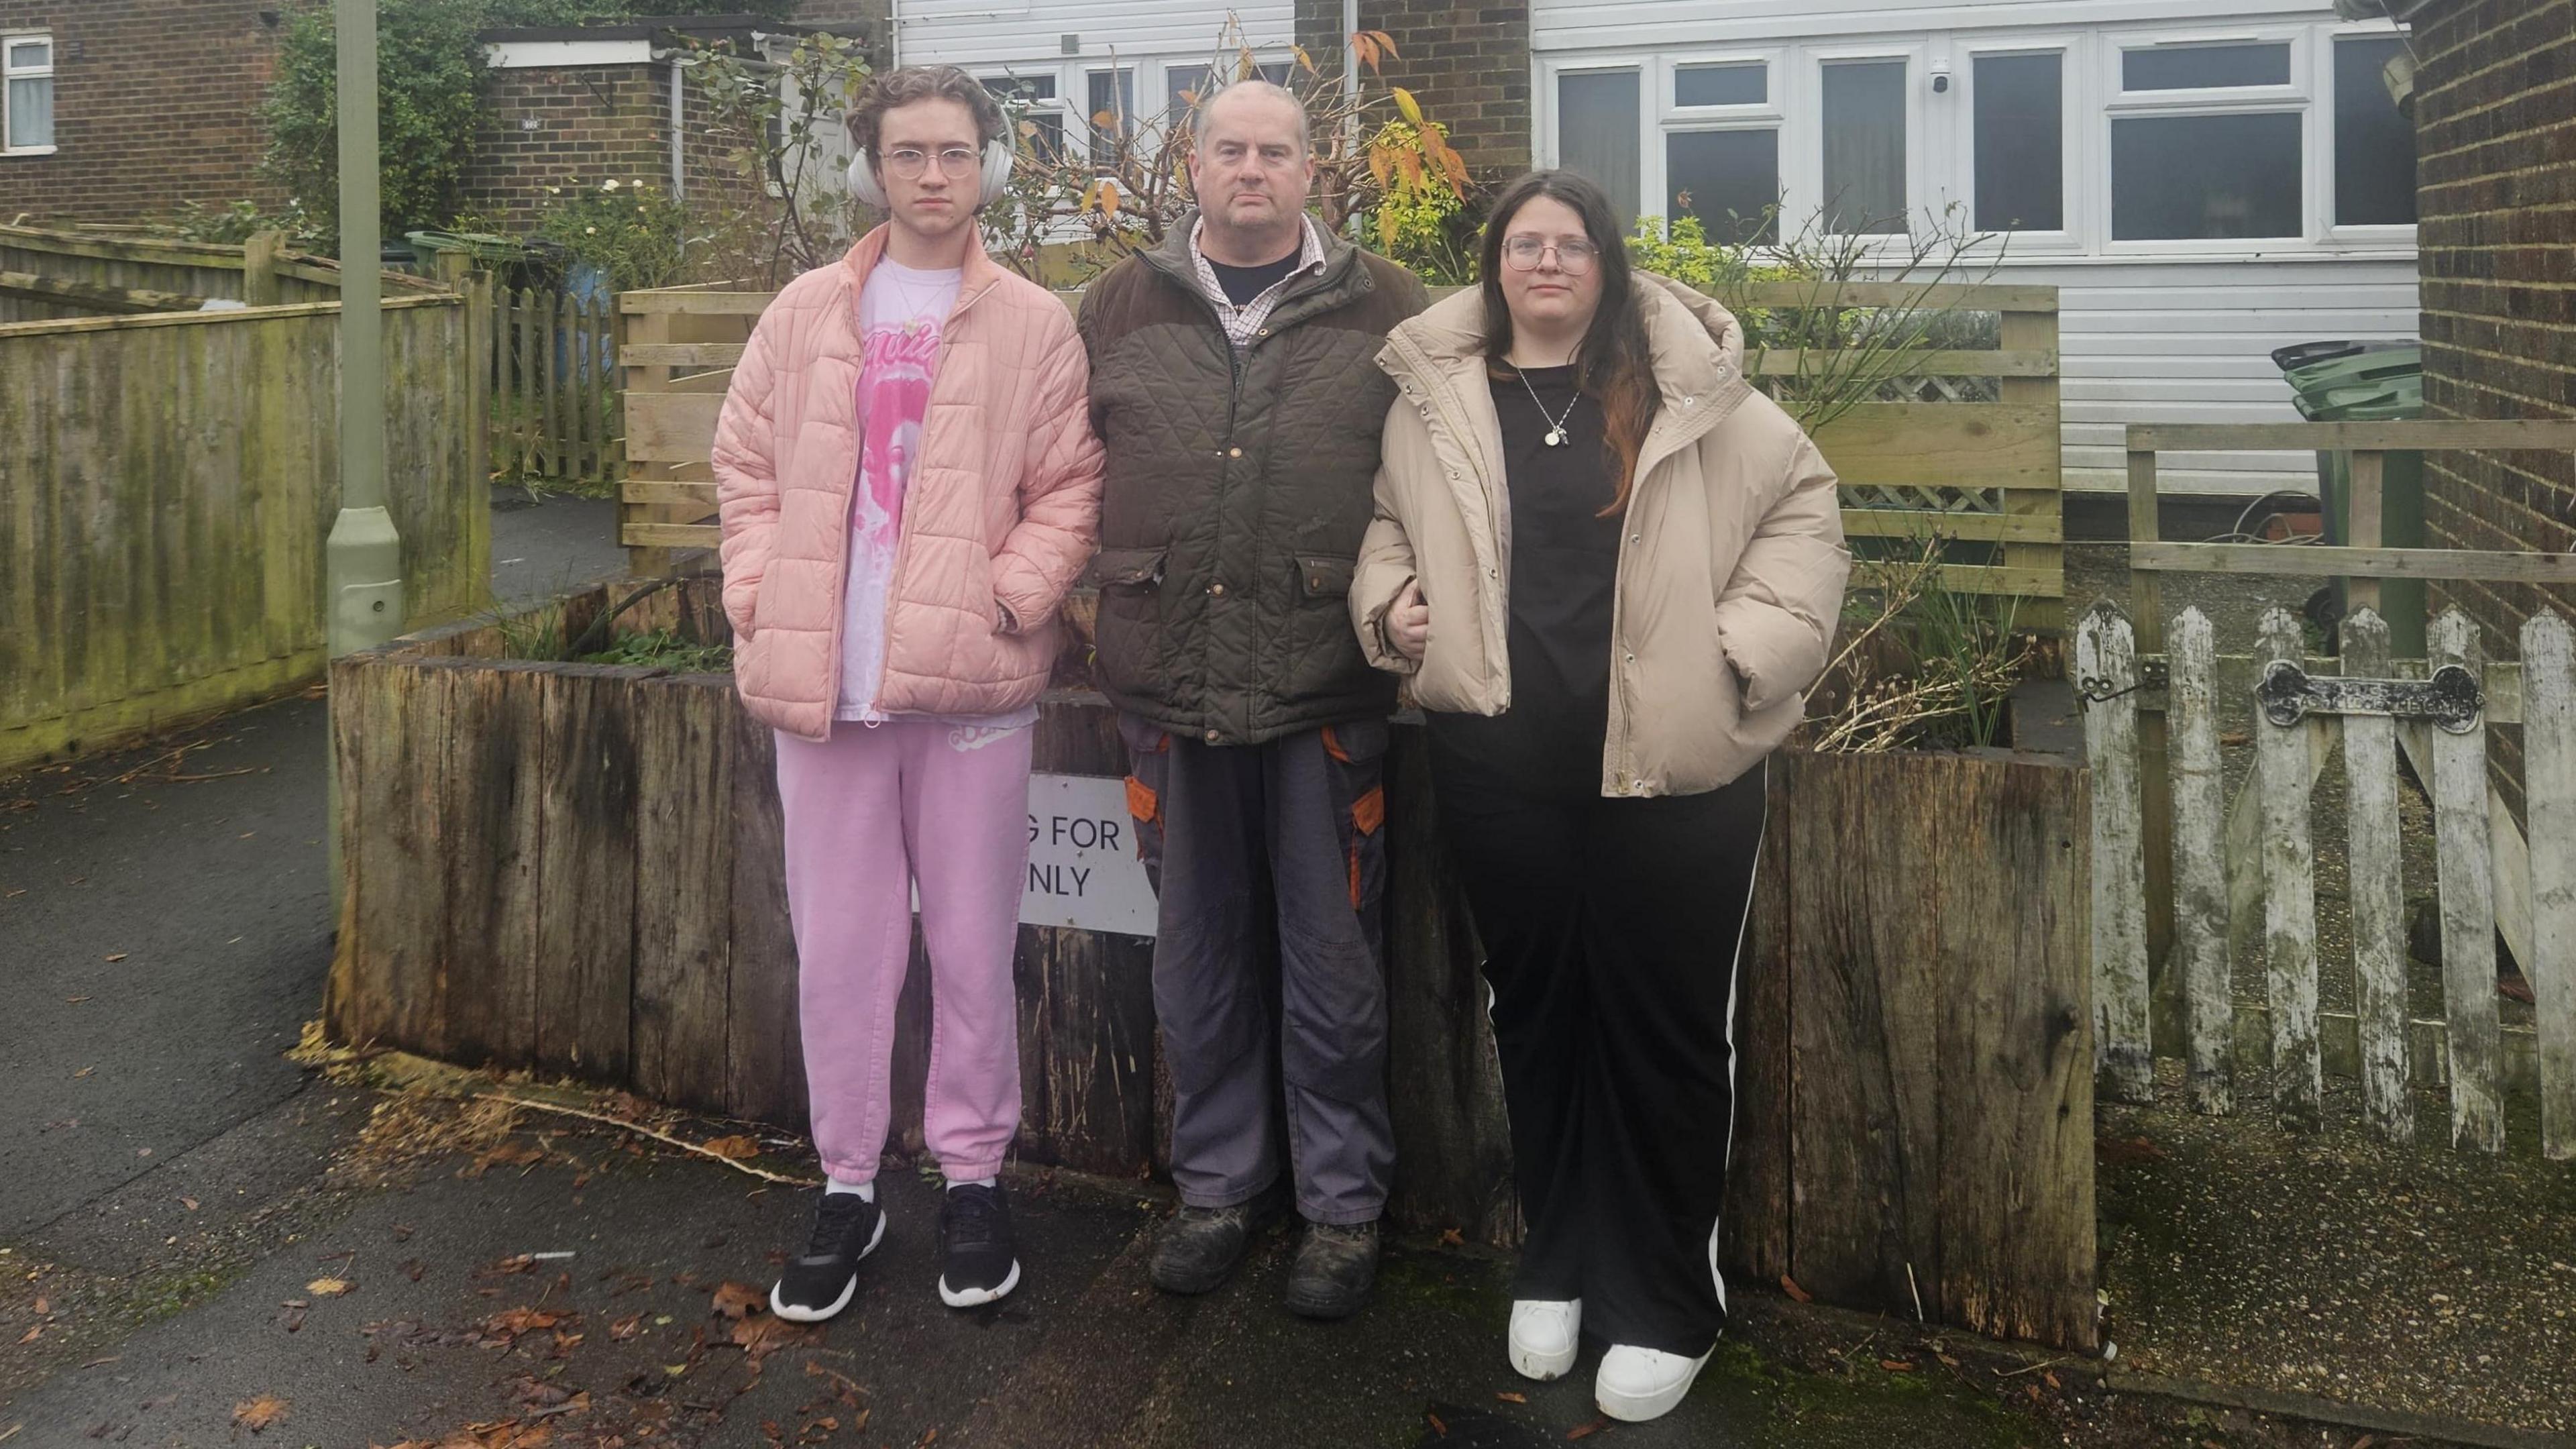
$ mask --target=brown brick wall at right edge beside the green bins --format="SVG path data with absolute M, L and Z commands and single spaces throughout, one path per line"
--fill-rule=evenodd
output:
M 2432 418 L 2576 415 L 2576 0 L 2439 0 L 2414 21 L 2416 186 L 2424 273 L 2424 410 Z M 2576 547 L 2568 454 L 2434 454 L 2432 547 Z M 2452 583 L 2509 657 L 2540 606 L 2576 590 Z M 2519 807 L 2519 730 L 2494 732 Z

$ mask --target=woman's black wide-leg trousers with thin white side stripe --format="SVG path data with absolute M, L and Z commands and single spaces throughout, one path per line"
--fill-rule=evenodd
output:
M 1698 1359 L 1726 1328 L 1716 1235 L 1765 773 L 1602 799 L 1432 750 L 1494 993 L 1528 1222 L 1512 1297 L 1579 1297 L 1607 1343 Z

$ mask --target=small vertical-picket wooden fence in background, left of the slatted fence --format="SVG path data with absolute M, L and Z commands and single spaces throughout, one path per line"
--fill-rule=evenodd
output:
M 605 297 L 474 284 L 489 309 L 492 469 L 590 482 L 618 474 L 618 312 Z

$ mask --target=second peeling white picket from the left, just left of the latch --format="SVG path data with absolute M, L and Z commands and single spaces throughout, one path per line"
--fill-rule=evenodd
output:
M 2192 1109 L 2236 1109 L 2236 1000 L 2228 980 L 2226 781 L 2218 771 L 2218 639 L 2210 619 L 2174 619 L 2174 951 Z

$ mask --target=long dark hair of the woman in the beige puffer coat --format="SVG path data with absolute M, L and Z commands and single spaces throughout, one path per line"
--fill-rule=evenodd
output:
M 1584 219 L 1584 237 L 1600 248 L 1595 266 L 1602 278 L 1602 299 L 1582 345 L 1574 348 L 1574 376 L 1602 407 L 1602 443 L 1618 477 L 1618 492 L 1600 511 L 1602 518 L 1610 518 L 1628 508 L 1636 454 L 1646 446 L 1646 428 L 1654 425 L 1664 397 L 1654 384 L 1654 353 L 1646 345 L 1646 317 L 1636 307 L 1628 242 L 1610 211 L 1610 196 L 1595 180 L 1571 170 L 1533 170 L 1502 188 L 1494 219 L 1484 224 L 1484 253 L 1476 268 L 1484 286 L 1484 356 L 1497 376 L 1510 376 L 1504 358 L 1512 356 L 1512 307 L 1502 297 L 1502 240 L 1512 229 L 1512 217 L 1540 196 L 1571 206 Z

